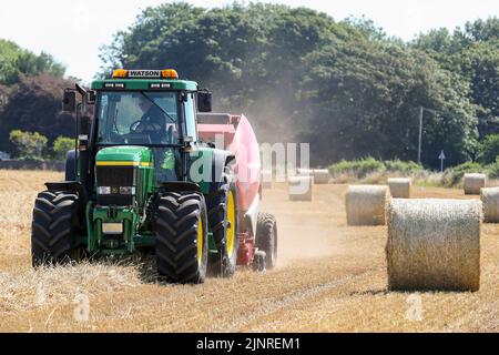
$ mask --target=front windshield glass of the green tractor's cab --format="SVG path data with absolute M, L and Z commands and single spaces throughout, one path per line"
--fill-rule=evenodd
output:
M 179 144 L 175 92 L 101 92 L 98 144 Z

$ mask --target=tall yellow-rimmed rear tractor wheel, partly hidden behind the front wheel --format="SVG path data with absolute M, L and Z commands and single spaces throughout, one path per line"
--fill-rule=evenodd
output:
M 232 277 L 237 264 L 237 187 L 232 172 L 208 199 L 208 222 L 216 246 L 210 258 L 210 273 Z

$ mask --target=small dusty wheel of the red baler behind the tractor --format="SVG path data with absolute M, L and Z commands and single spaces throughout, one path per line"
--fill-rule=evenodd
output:
M 265 252 L 265 267 L 277 265 L 277 221 L 269 213 L 258 213 L 256 224 L 256 247 Z

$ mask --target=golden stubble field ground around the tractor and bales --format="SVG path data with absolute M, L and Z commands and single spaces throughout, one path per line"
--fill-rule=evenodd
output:
M 345 185 L 314 186 L 313 202 L 289 202 L 284 184 L 264 191 L 262 210 L 279 227 L 279 266 L 264 274 L 238 270 L 232 280 L 190 286 L 159 282 L 149 261 L 33 271 L 33 199 L 43 181 L 61 178 L 0 171 L 1 332 L 499 331 L 496 225 L 482 227 L 476 293 L 387 292 L 386 227 L 346 226 Z M 415 187 L 415 194 L 465 197 L 436 187 Z M 85 297 L 89 317 L 79 322 Z M 408 316 L 418 300 L 420 317 Z

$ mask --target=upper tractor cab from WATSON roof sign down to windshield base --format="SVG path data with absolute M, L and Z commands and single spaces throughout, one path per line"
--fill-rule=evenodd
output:
M 194 94 L 208 93 L 198 93 L 193 81 L 179 80 L 174 70 L 115 70 L 111 80 L 93 82 L 92 90 L 96 144 L 177 145 L 197 140 Z M 211 111 L 206 105 L 198 109 Z

